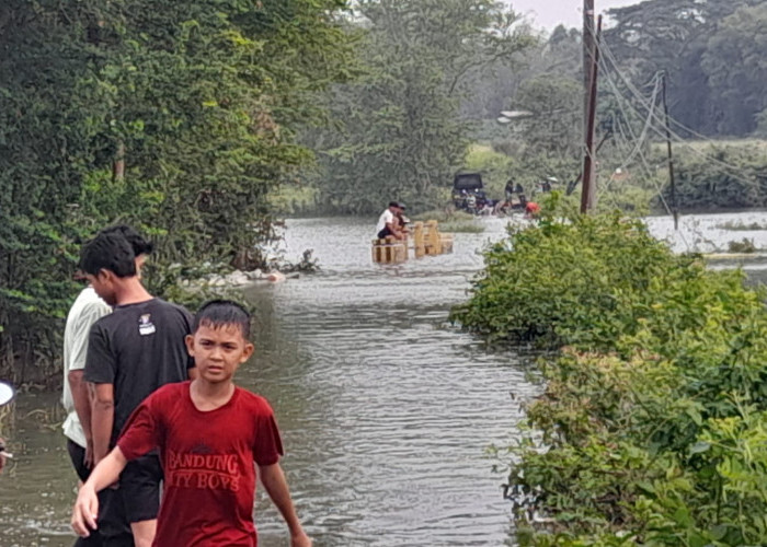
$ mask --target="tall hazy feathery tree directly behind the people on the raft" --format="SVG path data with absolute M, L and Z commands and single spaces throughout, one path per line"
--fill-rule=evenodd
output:
M 491 0 L 365 0 L 357 14 L 364 73 L 324 97 L 333 129 L 309 136 L 324 166 L 320 207 L 370 213 L 390 199 L 434 207 L 468 143 L 470 124 L 458 116 L 466 82 L 526 37 Z

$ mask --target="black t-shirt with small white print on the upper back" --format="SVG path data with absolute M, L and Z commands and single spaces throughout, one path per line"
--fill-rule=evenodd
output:
M 192 315 L 161 299 L 116 306 L 93 324 L 84 377 L 95 384 L 114 385 L 111 446 L 148 395 L 188 377 L 194 360 L 186 351 L 184 337 L 191 331 Z

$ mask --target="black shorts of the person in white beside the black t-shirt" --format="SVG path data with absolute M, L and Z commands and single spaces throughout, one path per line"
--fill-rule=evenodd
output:
M 77 476 L 83 482 L 91 470 L 85 467 L 85 449 L 67 439 L 67 452 Z M 99 529 L 88 537 L 80 537 L 75 547 L 133 547 L 134 536 L 125 519 L 123 498 L 117 490 L 105 488 L 99 492 Z

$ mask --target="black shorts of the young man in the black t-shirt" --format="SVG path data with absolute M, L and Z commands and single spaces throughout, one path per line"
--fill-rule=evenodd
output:
M 119 492 L 128 522 L 151 521 L 160 512 L 160 457 L 147 454 L 125 466 L 119 476 Z

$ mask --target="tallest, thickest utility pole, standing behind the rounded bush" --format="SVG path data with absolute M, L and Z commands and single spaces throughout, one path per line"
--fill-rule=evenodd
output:
M 591 25 L 586 23 L 585 4 L 591 4 Z M 596 188 L 594 176 L 594 162 L 596 151 L 594 150 L 594 132 L 596 127 L 596 90 L 597 74 L 599 72 L 599 37 L 602 35 L 602 15 L 597 22 L 596 33 L 594 33 L 594 0 L 584 0 L 584 33 L 589 32 L 591 50 L 586 54 L 584 49 L 584 60 L 588 57 L 588 63 L 583 66 L 584 73 L 588 74 L 588 94 L 586 103 L 585 118 L 585 142 L 586 152 L 583 159 L 583 187 L 581 188 L 581 213 L 586 213 L 594 209 L 596 202 Z M 588 26 L 588 28 L 587 28 Z M 594 37 L 596 36 L 596 37 Z M 586 44 L 584 34 L 584 46 Z

